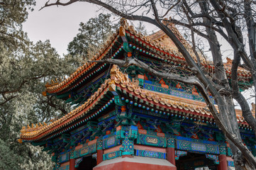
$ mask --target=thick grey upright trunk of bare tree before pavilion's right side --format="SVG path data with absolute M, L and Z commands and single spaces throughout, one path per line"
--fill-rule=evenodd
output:
M 206 1 L 201 1 L 199 5 L 202 13 L 208 13 L 208 5 L 206 4 Z M 211 21 L 209 21 L 208 18 L 203 19 L 204 23 L 206 23 L 207 25 L 211 25 Z M 221 45 L 218 42 L 216 33 L 211 28 L 206 28 L 206 33 L 208 35 L 208 43 L 211 47 L 211 54 L 213 56 L 213 63 L 215 67 L 215 73 L 212 75 L 212 77 L 213 79 L 218 80 L 218 83 L 221 86 L 224 86 L 225 89 L 230 90 L 226 70 L 223 67 L 223 60 L 220 48 Z M 238 121 L 235 113 L 235 106 L 233 104 L 233 98 L 231 96 L 221 95 L 221 99 L 222 100 L 218 100 L 218 98 L 216 98 L 216 103 L 218 104 L 219 110 L 219 118 L 221 122 L 226 126 L 226 129 L 232 132 L 233 135 L 238 137 L 238 140 L 242 142 L 240 131 L 238 128 Z M 226 140 L 228 140 L 227 137 Z M 243 155 L 238 149 L 238 147 L 236 147 L 230 140 L 228 140 L 228 143 L 230 144 L 230 148 L 233 153 L 235 169 L 245 169 L 245 165 L 247 167 L 246 169 L 248 169 L 249 167 L 252 167 L 253 169 L 253 166 L 250 165 L 250 162 L 247 162 L 247 160 L 243 158 Z

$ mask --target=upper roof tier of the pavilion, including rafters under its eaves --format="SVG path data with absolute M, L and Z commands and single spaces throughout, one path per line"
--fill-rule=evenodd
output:
M 174 42 L 172 42 L 172 40 L 167 37 L 167 35 L 162 30 L 157 31 L 157 33 L 154 33 L 152 35 L 145 36 L 142 33 L 138 33 L 133 28 L 133 26 L 129 26 L 126 20 L 121 20 L 121 28 L 125 30 L 126 37 L 130 45 L 140 49 L 140 52 L 145 52 L 144 55 L 148 57 L 155 57 L 158 60 L 173 62 L 174 64 L 181 63 L 183 66 L 187 66 L 187 63 L 182 56 L 182 53 L 179 52 L 177 47 L 174 45 Z M 191 57 L 193 57 L 196 61 L 196 56 L 194 55 L 191 45 L 189 45 L 187 40 L 183 38 L 181 33 L 179 33 L 179 30 L 177 30 L 174 24 L 170 24 L 169 28 L 175 33 L 175 35 L 177 35 L 177 38 L 182 42 L 184 47 L 187 48 Z M 116 52 L 118 52 L 118 50 L 121 50 L 122 39 L 119 34 L 120 29 L 116 30 L 116 33 L 113 33 L 113 35 L 109 38 L 108 41 L 106 41 L 101 50 L 99 50 L 99 52 L 91 58 L 91 61 L 102 60 L 106 57 L 115 57 Z M 119 44 L 120 48 L 116 49 L 116 51 L 111 51 L 111 47 L 113 47 L 113 45 L 115 44 Z M 110 51 L 113 54 L 112 56 L 109 56 Z M 213 72 L 213 62 L 206 61 L 201 55 L 199 57 L 201 59 L 201 64 L 206 67 L 208 72 Z M 96 65 L 98 66 L 97 68 L 95 68 Z M 91 74 L 95 74 L 95 72 L 97 72 L 100 67 L 104 67 L 104 64 L 101 64 L 99 66 L 99 64 L 97 63 L 87 62 L 79 67 L 73 74 L 70 75 L 70 77 L 68 77 L 64 81 L 47 84 L 46 92 L 48 94 L 57 94 L 63 91 L 67 91 L 72 87 L 74 88 L 76 84 L 82 83 L 82 81 L 90 77 Z M 224 64 L 224 67 L 226 69 L 228 77 L 230 77 L 230 64 Z M 84 79 L 79 79 L 81 77 L 84 77 Z M 243 81 L 249 81 L 249 79 L 251 79 L 251 74 L 246 69 L 239 67 L 238 78 Z

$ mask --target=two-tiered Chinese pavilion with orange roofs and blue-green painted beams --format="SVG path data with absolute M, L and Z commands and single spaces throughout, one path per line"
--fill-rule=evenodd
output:
M 169 28 L 196 60 L 177 28 Z M 136 57 L 149 65 L 165 62 L 182 74 L 188 72 L 184 57 L 165 33 L 143 36 L 123 19 L 92 61 L 109 57 Z M 225 64 L 228 77 L 231 62 Z M 213 72 L 213 64 L 204 59 L 201 63 Z M 238 74 L 241 90 L 251 85 L 247 70 L 240 68 Z M 77 106 L 52 123 L 21 130 L 19 142 L 43 146 L 55 170 L 234 167 L 228 142 L 194 86 L 154 77 L 135 66 L 122 70 L 89 62 L 64 81 L 47 84 L 43 95 Z M 241 111 L 236 112 L 243 142 L 255 154 L 252 129 Z

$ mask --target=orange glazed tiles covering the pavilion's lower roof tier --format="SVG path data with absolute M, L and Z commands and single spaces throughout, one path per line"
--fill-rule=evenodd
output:
M 101 87 L 91 95 L 82 106 L 79 106 L 74 109 L 74 111 L 67 113 L 67 115 L 48 125 L 44 123 L 44 125 L 40 124 L 40 126 L 36 127 L 33 125 L 32 127 L 28 126 L 28 128 L 24 127 L 21 130 L 21 140 L 40 140 L 47 137 L 51 133 L 74 122 L 78 118 L 87 115 L 87 113 L 96 105 L 96 102 L 100 101 L 107 91 L 116 91 L 116 89 L 128 91 L 129 94 L 141 98 L 143 101 L 148 101 L 153 105 L 160 105 L 162 108 L 170 108 L 171 110 L 176 109 L 181 112 L 188 111 L 190 115 L 212 118 L 211 113 L 206 109 L 206 103 L 142 89 L 138 86 L 138 81 L 130 81 L 127 74 L 123 74 L 116 65 L 113 65 L 113 68 L 111 69 L 111 79 L 106 79 L 104 84 L 101 84 Z M 241 111 L 236 110 L 236 112 L 238 113 L 238 122 L 243 123 L 245 120 L 241 115 Z

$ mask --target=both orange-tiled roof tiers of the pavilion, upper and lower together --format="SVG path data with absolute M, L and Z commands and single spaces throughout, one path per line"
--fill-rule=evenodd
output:
M 176 33 L 177 38 L 181 40 L 185 47 L 189 50 L 192 57 L 196 58 L 191 46 L 189 43 L 184 40 L 182 35 L 179 33 L 177 28 L 174 25 L 170 25 L 169 28 Z M 102 60 L 105 57 L 109 57 L 109 52 L 114 45 L 120 47 L 115 48 L 116 51 L 112 52 L 112 56 L 116 57 L 118 51 L 121 49 L 121 35 L 120 31 L 125 31 L 126 38 L 128 39 L 130 47 L 135 46 L 140 52 L 143 52 L 146 57 L 151 57 L 157 60 L 169 61 L 172 63 L 183 63 L 186 64 L 184 57 L 177 50 L 177 47 L 174 45 L 172 40 L 170 40 L 162 30 L 158 31 L 154 35 L 144 36 L 141 33 L 137 33 L 134 30 L 133 26 L 128 26 L 126 20 L 121 21 L 120 30 L 116 30 L 111 38 L 106 42 L 104 47 L 99 50 L 99 52 L 92 57 L 92 61 Z M 113 50 L 113 49 L 112 49 Z M 204 67 L 207 67 L 209 71 L 214 70 L 211 62 L 206 62 L 206 60 L 201 60 Z M 104 67 L 106 64 L 89 62 L 79 67 L 73 74 L 70 75 L 64 81 L 55 82 L 53 84 L 46 85 L 46 94 L 58 94 L 65 93 L 67 91 L 72 91 L 77 84 L 82 84 L 84 80 L 89 79 L 89 77 L 99 72 L 99 70 Z M 226 72 L 230 72 L 230 65 L 225 65 Z M 250 72 L 243 68 L 238 69 L 238 74 L 241 79 L 250 79 Z M 170 96 L 167 94 L 160 94 L 155 91 L 148 91 L 142 89 L 138 86 L 137 82 L 130 81 L 127 74 L 123 74 L 117 66 L 113 66 L 111 69 L 111 79 L 106 79 L 100 88 L 91 95 L 87 101 L 79 106 L 74 111 L 67 113 L 67 115 L 62 118 L 55 120 L 50 124 L 40 124 L 23 128 L 21 130 L 21 141 L 42 141 L 48 140 L 57 135 L 61 135 L 64 132 L 74 129 L 79 126 L 81 123 L 84 123 L 91 118 L 94 118 L 96 115 L 101 114 L 103 109 L 106 109 L 107 106 L 113 103 L 113 94 L 111 91 L 118 91 L 123 96 L 126 96 L 126 100 L 133 101 L 135 100 L 139 104 L 145 106 L 145 108 L 154 108 L 157 113 L 161 114 L 162 112 L 173 113 L 176 115 L 184 115 L 185 117 L 196 117 L 206 120 L 213 121 L 213 116 L 206 108 L 206 103 L 201 101 L 194 101 L 190 99 L 180 98 L 177 96 Z M 127 93 L 129 95 L 127 95 Z M 140 100 L 140 102 L 138 101 Z M 105 108 L 104 108 L 105 107 Z M 159 108 L 162 108 L 160 110 Z M 159 110 L 159 112 L 158 112 Z M 241 111 L 237 112 L 238 123 L 243 124 L 243 126 L 249 127 L 245 123 Z

